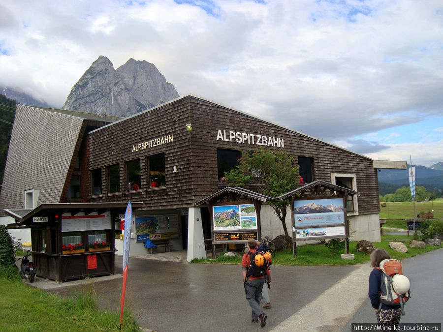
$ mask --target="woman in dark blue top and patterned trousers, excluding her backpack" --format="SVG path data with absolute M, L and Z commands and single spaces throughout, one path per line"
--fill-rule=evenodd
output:
M 375 249 L 371 254 L 371 266 L 374 268 L 369 274 L 369 299 L 376 310 L 377 323 L 382 326 L 395 326 L 400 323 L 401 309 L 398 305 L 387 305 L 380 302 L 381 278 L 380 262 L 390 256 L 382 248 Z

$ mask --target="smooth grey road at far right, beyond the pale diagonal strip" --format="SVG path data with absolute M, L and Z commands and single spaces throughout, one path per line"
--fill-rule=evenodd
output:
M 400 323 L 443 322 L 443 248 L 402 260 L 403 273 L 411 281 L 411 300 L 405 305 Z M 343 331 L 351 331 L 351 323 L 377 323 L 369 298 L 357 309 Z

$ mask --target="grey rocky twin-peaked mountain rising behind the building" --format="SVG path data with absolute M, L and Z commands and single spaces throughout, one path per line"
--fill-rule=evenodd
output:
M 115 70 L 100 56 L 74 85 L 63 109 L 127 117 L 177 97 L 154 64 L 129 59 Z

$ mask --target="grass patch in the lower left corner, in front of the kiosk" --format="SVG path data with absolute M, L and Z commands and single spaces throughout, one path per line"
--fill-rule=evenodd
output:
M 63 299 L 1 270 L 1 331 L 119 331 L 120 313 L 98 308 L 92 288 Z M 130 309 L 124 310 L 122 330 L 137 331 Z

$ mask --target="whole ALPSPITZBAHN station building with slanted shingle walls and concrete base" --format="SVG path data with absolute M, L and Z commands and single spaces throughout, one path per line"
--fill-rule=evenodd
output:
M 0 195 L 1 222 L 11 224 L 14 217 L 22 226 L 51 228 L 49 220 L 45 225 L 30 220 L 38 216 L 29 212 L 50 203 L 136 202 L 131 254 L 146 254 L 149 238 L 165 249 L 187 249 L 188 261 L 206 257 L 210 212 L 195 203 L 226 186 L 223 172 L 236 165 L 242 152 L 263 147 L 292 154 L 304 183 L 321 180 L 358 191 L 346 202 L 351 240 L 380 241 L 377 169 L 406 167 L 406 162 L 380 167 L 364 155 L 193 95 L 108 122 L 99 115 L 17 105 Z M 57 212 L 62 212 L 62 223 L 88 215 L 85 209 Z M 269 206 L 264 204 L 260 214 L 263 236 L 283 233 Z M 106 241 L 121 253 L 122 215 L 111 213 L 111 218 Z M 286 222 L 290 228 L 289 218 Z M 60 241 L 76 232 L 65 229 Z M 90 235 L 80 236 L 90 241 Z

